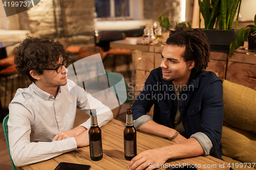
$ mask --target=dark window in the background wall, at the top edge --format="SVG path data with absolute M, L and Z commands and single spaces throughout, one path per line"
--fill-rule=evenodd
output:
M 130 16 L 130 0 L 95 0 L 97 18 Z

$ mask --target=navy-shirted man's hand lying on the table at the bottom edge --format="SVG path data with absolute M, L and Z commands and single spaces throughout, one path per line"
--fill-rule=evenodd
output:
M 144 169 L 149 165 L 164 164 L 168 160 L 168 154 L 166 153 L 167 151 L 167 147 L 144 151 L 134 157 L 127 167 L 129 168 L 129 170 L 140 170 Z M 147 167 L 146 170 L 148 169 L 154 168 Z

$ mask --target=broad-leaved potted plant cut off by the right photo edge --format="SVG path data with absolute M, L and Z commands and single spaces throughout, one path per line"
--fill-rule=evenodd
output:
M 256 52 L 256 14 L 254 16 L 254 25 L 248 25 L 239 30 L 237 38 L 234 39 L 230 44 L 229 56 L 231 53 L 244 46 L 244 41 L 248 38 L 248 52 Z

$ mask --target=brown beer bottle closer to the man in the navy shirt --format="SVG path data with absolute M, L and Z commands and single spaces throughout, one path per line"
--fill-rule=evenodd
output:
M 124 157 L 132 160 L 137 155 L 137 136 L 133 126 L 133 110 L 126 110 L 126 127 L 123 130 Z

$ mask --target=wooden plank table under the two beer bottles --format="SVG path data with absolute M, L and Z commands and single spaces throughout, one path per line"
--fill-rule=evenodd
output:
M 54 169 L 59 162 L 70 162 L 91 165 L 90 170 L 99 169 L 127 169 L 130 161 L 124 159 L 123 154 L 123 129 L 125 124 L 119 120 L 112 119 L 108 124 L 101 127 L 102 144 L 103 144 L 103 158 L 100 161 L 92 161 L 90 158 L 89 147 L 78 148 L 75 151 L 62 154 L 50 160 L 31 164 L 28 166 L 17 167 L 17 169 Z M 169 144 L 174 144 L 168 139 L 158 137 L 155 135 L 137 132 L 137 152 L 163 147 Z M 194 164 L 198 169 L 229 169 L 228 163 L 211 156 L 198 156 L 183 159 L 168 160 L 170 165 Z M 224 164 L 224 166 L 223 166 Z M 223 167 L 220 168 L 220 165 Z M 206 168 L 203 168 L 205 166 Z M 207 168 L 208 166 L 208 168 Z M 211 167 L 210 167 L 211 166 Z M 209 168 L 210 167 L 210 168 Z M 164 168 L 159 168 L 164 169 Z

